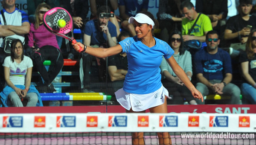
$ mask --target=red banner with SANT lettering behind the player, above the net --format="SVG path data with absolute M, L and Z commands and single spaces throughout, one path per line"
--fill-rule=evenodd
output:
M 256 114 L 256 105 L 206 104 L 206 105 L 167 105 L 168 113 L 218 113 Z M 43 107 L 1 107 L 1 113 L 125 113 L 121 105 L 99 106 L 45 106 Z M 148 113 L 149 110 L 146 110 Z

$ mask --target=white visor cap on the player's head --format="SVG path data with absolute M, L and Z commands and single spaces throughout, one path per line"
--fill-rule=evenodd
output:
M 136 20 L 138 23 L 147 23 L 148 25 L 152 25 L 152 27 L 154 27 L 154 21 L 145 14 L 138 13 L 135 17 L 130 17 L 128 22 L 134 23 L 134 20 Z

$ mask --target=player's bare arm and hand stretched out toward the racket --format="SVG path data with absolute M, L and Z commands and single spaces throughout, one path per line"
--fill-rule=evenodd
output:
M 77 42 L 73 44 L 73 48 L 79 52 L 82 48 L 83 50 L 80 53 L 88 53 L 90 55 L 96 56 L 98 58 L 105 58 L 111 55 L 116 55 L 120 52 L 122 52 L 122 46 L 117 44 L 116 46 L 109 47 L 109 48 L 93 48 L 90 46 L 85 46 L 84 44 L 81 44 L 80 42 Z M 80 47 L 79 47 L 80 46 Z

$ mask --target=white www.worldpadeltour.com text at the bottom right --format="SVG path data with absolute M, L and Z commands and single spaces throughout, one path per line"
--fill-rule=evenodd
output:
M 254 139 L 254 133 L 181 133 L 182 139 Z

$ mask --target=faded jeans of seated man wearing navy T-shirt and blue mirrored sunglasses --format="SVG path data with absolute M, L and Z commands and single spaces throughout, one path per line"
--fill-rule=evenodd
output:
M 221 80 L 209 80 L 210 83 L 220 83 Z M 212 91 L 212 89 L 208 88 L 205 84 L 197 83 L 196 89 L 202 93 L 203 96 L 215 94 L 215 92 Z M 231 96 L 230 104 L 239 104 L 240 103 L 240 89 L 238 86 L 232 83 L 228 83 L 222 90 L 224 96 Z M 198 104 L 204 104 L 204 102 L 201 102 L 200 100 L 195 100 Z

